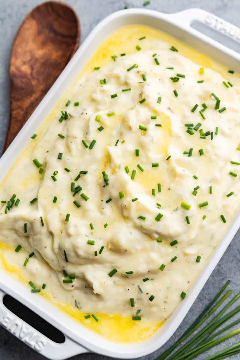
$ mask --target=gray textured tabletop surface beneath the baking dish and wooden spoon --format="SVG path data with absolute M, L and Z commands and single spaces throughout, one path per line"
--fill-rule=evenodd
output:
M 68 0 L 76 10 L 81 21 L 81 42 L 94 28 L 94 26 L 104 17 L 116 10 L 123 9 L 125 5 L 131 7 L 143 7 L 143 0 Z M 6 131 L 9 119 L 9 56 L 14 36 L 18 30 L 19 25 L 23 21 L 27 13 L 36 5 L 40 4 L 38 0 L 0 0 L 0 152 L 4 145 Z M 148 9 L 154 9 L 165 13 L 172 13 L 181 11 L 187 8 L 197 8 L 208 10 L 219 17 L 239 25 L 240 14 L 240 0 L 151 0 Z M 220 39 L 216 36 L 216 39 Z M 222 40 L 221 40 L 222 41 Z M 225 44 L 231 46 L 230 40 L 225 40 Z M 234 46 L 235 50 L 240 50 L 239 45 Z M 186 318 L 178 328 L 176 333 L 162 348 L 162 350 L 169 347 L 184 330 L 191 324 L 193 319 L 199 312 L 207 305 L 207 303 L 221 288 L 227 279 L 231 279 L 231 289 L 236 294 L 240 291 L 240 276 L 239 276 L 239 252 L 240 252 L 240 232 L 237 233 L 232 243 L 228 247 L 225 255 L 223 255 L 218 266 L 214 270 L 212 276 L 201 291 L 198 299 L 195 301 L 193 307 L 187 314 Z M 234 319 L 236 319 L 235 317 Z M 235 327 L 236 328 L 236 327 Z M 240 341 L 240 336 L 228 341 L 228 345 Z M 224 347 L 221 344 L 217 348 L 208 351 L 208 355 L 213 354 L 216 349 L 220 350 Z M 158 350 L 153 354 L 142 357 L 141 360 L 153 360 L 162 350 Z M 207 355 L 199 356 L 198 359 L 205 359 Z M 0 327 L 0 359 L 1 360 L 22 360 L 22 359 L 43 360 L 44 358 L 34 352 L 32 349 L 24 345 L 14 336 L 9 334 L 5 329 Z M 72 360 L 106 360 L 107 357 L 95 354 L 83 354 L 75 356 Z M 232 356 L 231 359 L 239 359 L 239 355 Z

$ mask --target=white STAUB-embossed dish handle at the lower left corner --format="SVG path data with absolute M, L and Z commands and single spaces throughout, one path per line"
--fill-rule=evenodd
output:
M 41 334 L 31 325 L 9 311 L 3 304 L 5 293 L 0 289 L 0 325 L 19 340 L 51 360 L 63 360 L 68 357 L 89 352 L 65 334 L 62 344 L 55 343 Z

